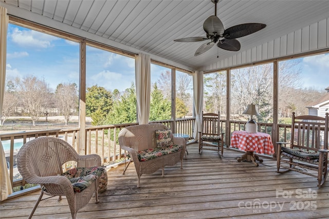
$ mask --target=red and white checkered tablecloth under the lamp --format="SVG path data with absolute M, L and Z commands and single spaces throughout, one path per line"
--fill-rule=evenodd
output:
M 274 153 L 271 136 L 262 132 L 248 133 L 246 131 L 233 131 L 231 136 L 231 147 L 262 154 Z

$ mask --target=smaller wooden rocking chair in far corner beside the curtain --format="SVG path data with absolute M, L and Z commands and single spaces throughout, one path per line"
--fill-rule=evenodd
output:
M 223 156 L 224 133 L 220 131 L 220 114 L 202 112 L 202 131 L 199 132 L 199 154 L 214 150 Z

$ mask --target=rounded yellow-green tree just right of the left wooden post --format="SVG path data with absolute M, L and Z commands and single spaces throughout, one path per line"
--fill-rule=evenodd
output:
M 94 126 L 101 125 L 113 106 L 113 95 L 104 87 L 94 85 L 87 88 L 86 115 L 93 118 Z

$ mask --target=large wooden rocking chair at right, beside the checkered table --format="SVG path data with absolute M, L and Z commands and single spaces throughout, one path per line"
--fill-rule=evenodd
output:
M 323 118 L 293 113 L 290 147 L 277 142 L 278 173 L 297 171 L 318 178 L 319 188 L 323 185 L 328 174 L 328 114 Z

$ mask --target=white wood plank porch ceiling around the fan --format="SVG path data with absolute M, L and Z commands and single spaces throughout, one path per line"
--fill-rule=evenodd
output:
M 110 46 L 149 53 L 190 70 L 203 69 L 236 53 L 214 46 L 195 57 L 194 52 L 205 42 L 173 41 L 206 35 L 203 23 L 215 10 L 210 0 L 0 0 L 0 3 L 14 16 L 36 19 L 40 24 L 69 30 L 94 41 L 101 37 Z M 226 29 L 243 23 L 267 25 L 257 33 L 238 38 L 240 51 L 245 51 L 326 19 L 329 1 L 221 0 L 217 16 Z

